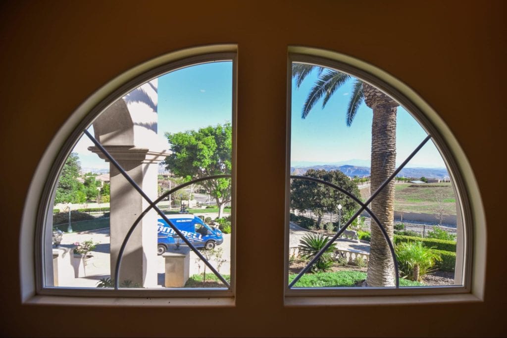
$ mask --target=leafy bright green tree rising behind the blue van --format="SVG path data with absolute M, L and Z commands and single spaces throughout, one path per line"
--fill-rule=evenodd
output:
M 232 127 L 230 123 L 166 133 L 172 154 L 165 159 L 166 168 L 187 180 L 231 173 Z M 226 203 L 231 201 L 231 180 L 219 178 L 200 183 L 215 199 L 221 217 Z

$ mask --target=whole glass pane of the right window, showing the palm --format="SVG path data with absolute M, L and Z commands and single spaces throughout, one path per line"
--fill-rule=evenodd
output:
M 289 286 L 393 287 L 392 253 L 400 287 L 461 285 L 456 190 L 426 131 L 348 73 L 306 63 L 292 69 Z M 365 202 L 385 234 L 361 210 Z

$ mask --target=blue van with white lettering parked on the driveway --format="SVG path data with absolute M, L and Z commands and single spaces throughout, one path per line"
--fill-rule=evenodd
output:
M 215 245 L 220 245 L 224 242 L 224 237 L 220 230 L 211 228 L 201 218 L 193 214 L 166 215 L 166 217 L 196 248 L 211 250 Z M 167 248 L 175 245 L 175 236 L 177 235 L 162 218 L 159 218 L 157 226 L 157 253 L 161 255 Z M 183 240 L 179 242 L 182 246 L 187 245 Z

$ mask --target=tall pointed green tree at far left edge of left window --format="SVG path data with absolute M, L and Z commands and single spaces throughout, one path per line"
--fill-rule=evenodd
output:
M 80 171 L 79 156 L 77 153 L 71 153 L 58 177 L 55 203 L 83 203 L 86 201 L 83 183 L 78 181 Z

